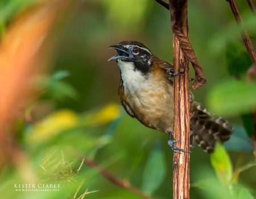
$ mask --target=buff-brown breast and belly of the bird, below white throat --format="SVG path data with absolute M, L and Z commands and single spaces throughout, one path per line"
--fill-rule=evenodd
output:
M 143 125 L 165 132 L 174 126 L 174 88 L 165 69 L 152 67 L 137 86 L 121 84 L 119 97 L 126 112 Z

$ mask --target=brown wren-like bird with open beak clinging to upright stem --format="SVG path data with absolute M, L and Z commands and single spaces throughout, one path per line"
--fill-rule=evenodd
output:
M 123 41 L 110 45 L 117 55 L 120 71 L 119 99 L 126 113 L 144 126 L 169 135 L 168 145 L 174 152 L 190 152 L 175 146 L 174 134 L 174 66 L 156 57 L 146 45 L 136 41 Z M 194 101 L 189 91 L 190 144 L 195 143 L 205 152 L 214 152 L 216 142 L 229 140 L 233 127 L 225 119 L 212 114 Z M 181 138 L 182 139 L 182 138 Z

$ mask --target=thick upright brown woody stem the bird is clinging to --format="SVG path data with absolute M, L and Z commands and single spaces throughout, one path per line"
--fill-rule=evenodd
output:
M 172 31 L 174 32 L 174 68 L 176 76 L 174 84 L 175 127 L 174 138 L 181 140 L 177 147 L 189 151 L 189 99 L 188 99 L 188 56 L 185 53 L 192 47 L 188 41 L 188 2 L 170 0 Z M 186 43 L 186 44 L 185 44 Z M 184 48 L 183 48 L 184 47 Z M 187 48 L 188 47 L 188 48 Z M 188 50 L 188 51 L 187 51 Z M 195 57 L 194 57 L 195 58 Z M 190 60 L 191 61 L 191 60 Z M 174 154 L 173 197 L 189 198 L 189 154 Z

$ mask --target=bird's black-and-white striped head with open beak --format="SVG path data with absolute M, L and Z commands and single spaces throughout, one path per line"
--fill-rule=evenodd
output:
M 118 45 L 111 45 L 117 51 L 117 55 L 111 57 L 110 60 L 117 60 L 118 65 L 133 65 L 135 71 L 148 73 L 154 62 L 154 55 L 141 42 L 126 41 Z M 121 69 L 122 70 L 122 69 Z

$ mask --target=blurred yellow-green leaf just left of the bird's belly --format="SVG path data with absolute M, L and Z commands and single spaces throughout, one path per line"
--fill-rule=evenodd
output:
M 121 114 L 120 106 L 117 103 L 109 103 L 100 110 L 93 110 L 81 117 L 85 126 L 105 125 L 117 119 Z

